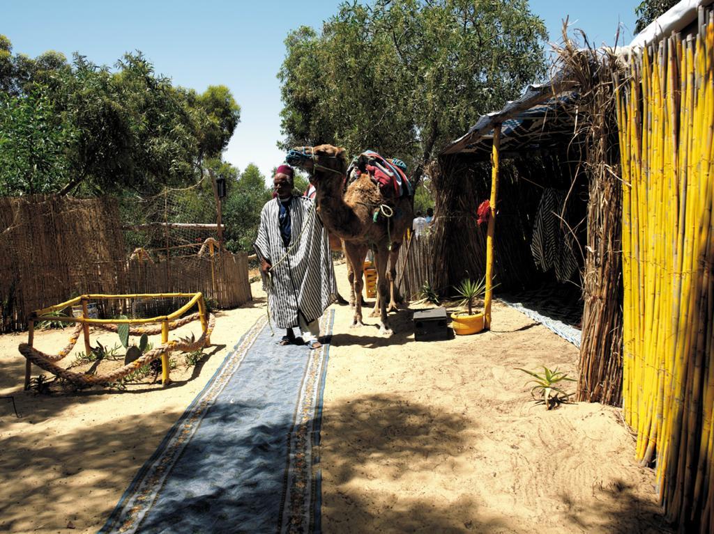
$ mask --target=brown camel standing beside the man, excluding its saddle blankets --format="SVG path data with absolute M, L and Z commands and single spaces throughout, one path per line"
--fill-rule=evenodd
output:
M 413 220 L 413 200 L 406 196 L 383 197 L 368 173 L 362 173 L 343 193 L 347 170 L 344 148 L 333 145 L 299 147 L 291 150 L 288 159 L 289 163 L 312 175 L 311 183 L 317 190 L 317 209 L 323 224 L 331 235 L 343 241 L 352 285 L 350 304 L 354 307 L 353 327 L 363 325 L 363 262 L 368 249 L 372 248 L 377 269 L 377 299 L 373 314 L 378 314 L 381 319 L 381 333 L 391 334 L 387 314 L 388 310 L 398 309 L 394 283 L 396 260 L 403 237 Z M 381 209 L 381 206 L 386 207 Z M 389 304 L 386 298 L 387 281 Z

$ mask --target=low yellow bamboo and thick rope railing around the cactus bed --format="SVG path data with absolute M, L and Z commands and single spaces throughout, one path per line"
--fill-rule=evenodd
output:
M 106 300 L 106 299 L 186 299 L 188 302 L 183 304 L 179 309 L 170 314 L 161 317 L 149 317 L 147 319 L 94 319 L 89 317 L 87 304 L 90 300 Z M 81 317 L 57 317 L 51 315 L 52 312 L 57 312 L 71 306 L 81 305 Z M 181 317 L 193 307 L 198 307 L 198 312 Z M 67 323 L 75 323 L 75 327 L 69 336 L 69 343 L 64 346 L 57 354 L 46 354 L 34 348 L 34 325 L 36 322 L 51 319 L 53 321 L 61 321 Z M 201 336 L 198 339 L 178 339 L 169 341 L 169 332 L 178 327 L 199 319 L 201 321 Z M 204 346 L 211 344 L 211 332 L 216 324 L 216 318 L 213 314 L 208 313 L 206 309 L 206 301 L 201 293 L 166 293 L 166 294 L 86 294 L 74 299 L 70 299 L 61 304 L 55 304 L 44 309 L 38 309 L 32 312 L 29 316 L 29 330 L 27 334 L 27 343 L 21 343 L 18 347 L 20 354 L 27 359 L 25 366 L 25 389 L 28 389 L 30 384 L 30 375 L 32 364 L 49 371 L 61 379 L 70 381 L 77 386 L 94 386 L 96 384 L 112 384 L 119 381 L 137 369 L 151 363 L 157 358 L 161 358 L 161 383 L 166 386 L 171 382 L 169 376 L 169 354 L 172 351 L 194 351 L 202 349 Z M 151 323 L 159 323 L 154 327 L 140 326 L 132 328 L 131 325 L 147 325 Z M 129 324 L 130 336 L 141 336 L 143 334 L 153 335 L 161 334 L 161 346 L 146 351 L 139 359 L 126 364 L 119 369 L 115 369 L 108 374 L 89 374 L 77 373 L 65 369 L 56 364 L 57 361 L 64 359 L 74 348 L 80 333 L 84 334 L 84 349 L 86 354 L 90 354 L 91 346 L 89 343 L 89 327 L 97 327 L 106 329 L 111 332 L 117 331 L 118 324 Z

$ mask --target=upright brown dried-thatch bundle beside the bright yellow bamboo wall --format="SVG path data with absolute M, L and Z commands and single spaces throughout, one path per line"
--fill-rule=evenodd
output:
M 565 34 L 564 34 L 565 36 Z M 565 36 L 563 71 L 579 88 L 575 135 L 584 140 L 588 175 L 588 237 L 583 271 L 583 327 L 578 400 L 620 406 L 622 401 L 622 182 L 615 120 L 611 53 L 577 48 Z

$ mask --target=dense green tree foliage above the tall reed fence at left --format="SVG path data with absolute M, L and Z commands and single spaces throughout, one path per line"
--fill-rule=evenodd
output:
M 240 120 L 228 88 L 175 87 L 140 52 L 110 69 L 79 54 L 72 63 L 52 51 L 13 55 L 3 36 L 0 106 L 0 142 L 18 156 L 0 168 L 0 190 L 13 195 L 187 185 L 200 178 L 205 158 L 226 148 Z M 19 142 L 29 125 L 36 150 Z

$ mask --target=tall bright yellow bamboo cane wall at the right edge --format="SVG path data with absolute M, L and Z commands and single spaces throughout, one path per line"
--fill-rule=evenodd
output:
M 714 21 L 630 58 L 623 170 L 623 408 L 670 520 L 714 532 Z

